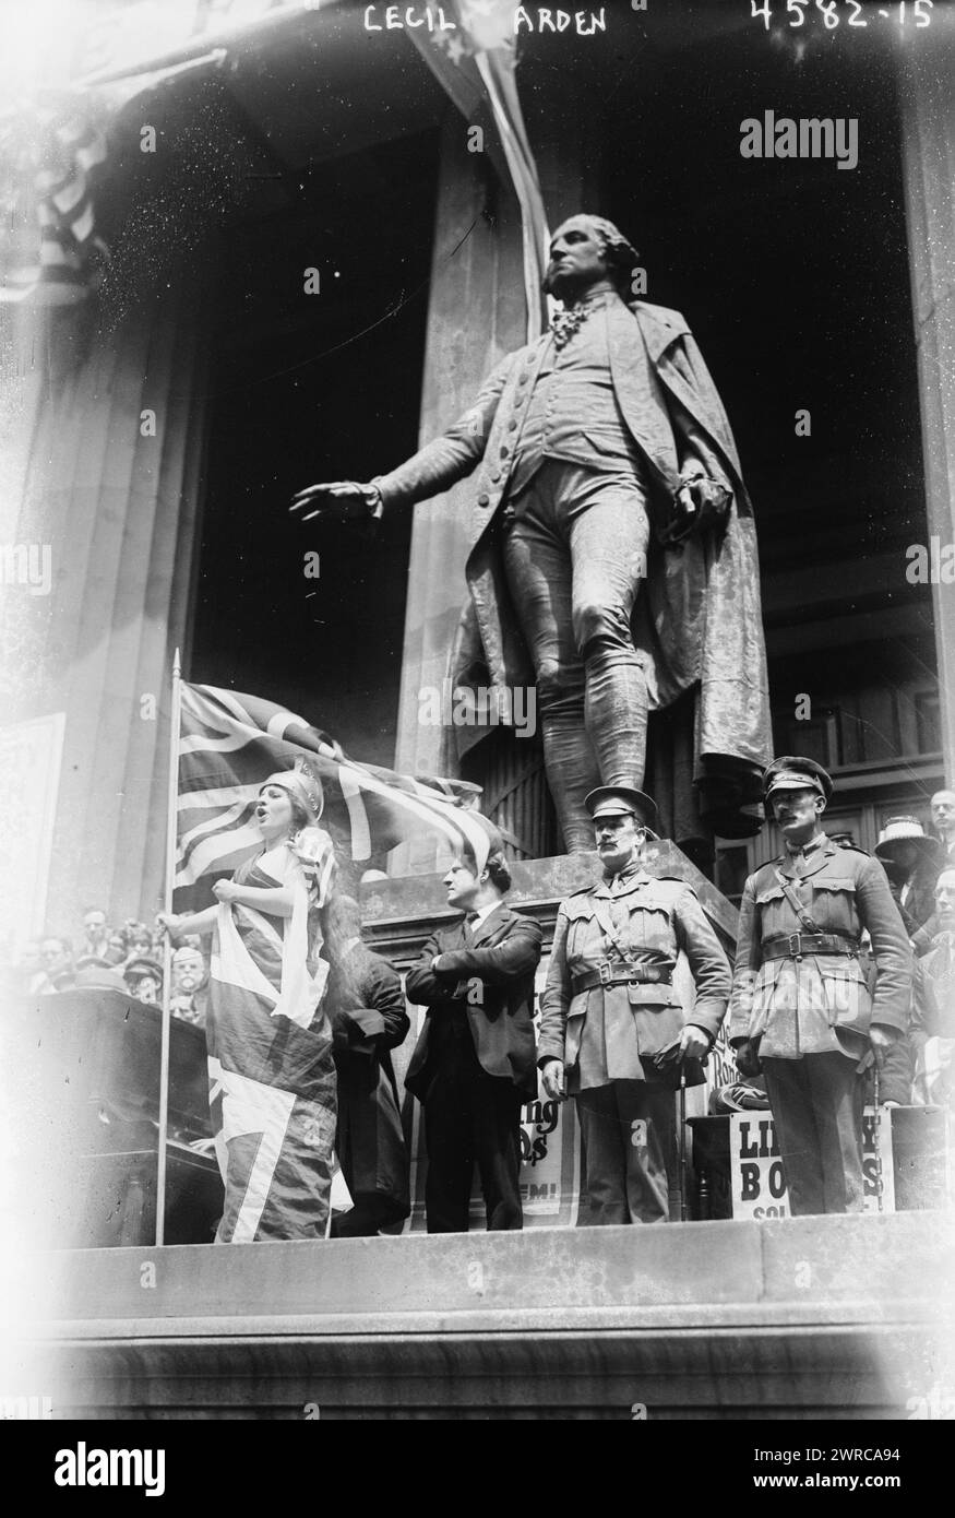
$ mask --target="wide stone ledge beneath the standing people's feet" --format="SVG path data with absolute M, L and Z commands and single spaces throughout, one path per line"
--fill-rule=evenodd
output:
M 905 1418 L 955 1371 L 941 1213 L 20 1264 L 56 1418 Z

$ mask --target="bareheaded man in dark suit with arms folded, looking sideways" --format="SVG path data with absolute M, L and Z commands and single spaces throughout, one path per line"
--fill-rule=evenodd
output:
M 439 931 L 408 972 L 410 1002 L 428 1008 L 405 1087 L 424 1105 L 428 1233 L 466 1233 L 477 1164 L 487 1228 L 521 1228 L 521 1107 L 537 1094 L 534 970 L 542 935 L 504 905 L 510 871 L 496 829 L 481 818 L 484 858 L 455 859 L 448 905 L 465 912 Z M 483 853 L 483 839 L 475 846 Z

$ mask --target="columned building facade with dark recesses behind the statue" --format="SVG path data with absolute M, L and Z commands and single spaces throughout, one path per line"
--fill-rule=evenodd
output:
M 454 748 L 421 721 L 466 594 L 468 483 L 373 545 L 287 512 L 407 457 L 524 342 L 518 199 L 421 46 L 354 5 L 278 11 L 121 85 L 99 287 L 0 307 L 2 542 L 50 566 L 44 594 L 5 557 L 24 932 L 159 905 L 175 648 L 187 679 L 282 701 L 355 757 L 457 765 L 518 856 L 562 847 L 533 739 Z M 931 577 L 955 539 L 955 18 L 800 55 L 723 11 L 610 8 L 603 35 L 524 36 L 516 77 L 550 225 L 616 220 L 647 299 L 700 342 L 756 505 L 776 748 L 827 764 L 871 847 L 955 764 L 955 591 Z M 858 165 L 744 158 L 770 109 L 856 120 Z M 651 745 L 651 788 L 686 777 L 677 724 Z M 38 786 L 39 808 L 9 800 Z M 692 835 L 676 803 L 667 830 Z M 721 890 L 765 852 L 717 841 Z

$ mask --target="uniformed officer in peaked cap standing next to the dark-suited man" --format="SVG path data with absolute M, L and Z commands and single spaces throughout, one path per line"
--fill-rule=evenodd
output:
M 729 962 L 686 882 L 644 870 L 656 821 L 650 797 L 598 786 L 586 806 L 604 873 L 560 903 L 537 1064 L 548 1096 L 577 1101 L 582 1220 L 667 1222 L 674 1081 L 657 1058 L 668 1055 L 676 1067 L 709 1052 L 729 999 Z M 673 985 L 680 949 L 697 987 L 689 1020 Z

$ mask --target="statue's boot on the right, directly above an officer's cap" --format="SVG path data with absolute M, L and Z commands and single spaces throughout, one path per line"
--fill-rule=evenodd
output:
M 585 721 L 601 785 L 639 789 L 647 767 L 647 677 L 636 653 L 597 648 L 585 657 Z

